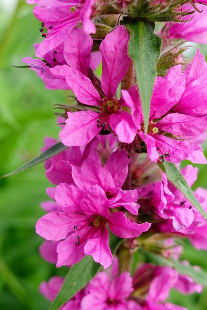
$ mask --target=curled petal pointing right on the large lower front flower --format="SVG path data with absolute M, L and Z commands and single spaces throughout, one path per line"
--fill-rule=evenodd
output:
M 111 232 L 120 238 L 136 238 L 143 232 L 148 231 L 151 226 L 151 224 L 147 222 L 143 224 L 130 222 L 123 212 L 110 214 L 108 220 Z

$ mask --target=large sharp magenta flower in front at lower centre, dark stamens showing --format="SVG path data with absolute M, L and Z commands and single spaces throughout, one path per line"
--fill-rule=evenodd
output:
M 50 212 L 40 218 L 36 232 L 47 240 L 60 241 L 57 246 L 57 266 L 78 263 L 86 255 L 104 268 L 111 265 L 109 228 L 120 238 L 135 238 L 146 232 L 149 223 L 130 222 L 122 212 L 110 213 L 110 204 L 103 189 L 91 186 L 85 193 L 63 183 L 57 186 L 55 200 L 62 212 Z

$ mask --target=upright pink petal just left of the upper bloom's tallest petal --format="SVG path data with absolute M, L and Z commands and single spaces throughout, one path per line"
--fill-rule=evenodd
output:
M 93 39 L 81 29 L 74 29 L 64 41 L 64 58 L 67 64 L 88 76 Z

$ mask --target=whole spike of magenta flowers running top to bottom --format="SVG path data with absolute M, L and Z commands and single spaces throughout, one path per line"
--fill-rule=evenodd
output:
M 42 23 L 43 41 L 34 45 L 41 59 L 23 62 L 48 89 L 73 92 L 76 103 L 58 106 L 64 109 L 59 139 L 67 148 L 45 162 L 55 187 L 48 188 L 51 200 L 42 203 L 47 214 L 36 224 L 46 239 L 40 253 L 57 267 L 70 268 L 85 255 L 104 269 L 111 266 L 60 309 L 186 310 L 166 301 L 170 290 L 200 293 L 201 285 L 144 258 L 131 275 L 129 261 L 140 249 L 179 261 L 182 247 L 176 240 L 182 237 L 207 250 L 206 220 L 191 197 L 159 169 L 166 162 L 177 164 L 173 167 L 191 187 L 197 168 L 180 170 L 178 164 L 183 159 L 207 162 L 201 148 L 207 130 L 207 64 L 199 50 L 186 61 L 181 47 L 184 40 L 207 43 L 204 1 L 27 2 L 37 4 L 33 13 Z M 124 22 L 133 24 L 140 17 L 146 29 L 153 21 L 165 22 L 147 124 L 136 61 L 128 54 L 136 33 Z M 46 138 L 42 152 L 56 143 Z M 207 211 L 206 190 L 198 188 L 194 195 Z M 118 258 L 111 249 L 114 235 L 119 237 Z M 40 292 L 52 301 L 63 282 L 53 277 Z

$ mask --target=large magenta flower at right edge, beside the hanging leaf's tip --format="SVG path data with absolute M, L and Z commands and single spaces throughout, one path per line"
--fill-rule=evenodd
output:
M 166 159 L 179 163 L 188 159 L 193 163 L 206 163 L 198 145 L 200 143 L 195 140 L 207 129 L 207 87 L 203 83 L 207 65 L 205 63 L 199 73 L 195 63 L 203 62 L 200 58 L 201 55 L 197 54 L 184 73 L 180 71 L 181 66 L 177 65 L 168 71 L 165 78 L 156 78 L 146 137 L 143 133 L 143 112 L 136 86 L 122 91 L 124 99 L 127 98 L 131 107 L 132 117 L 141 119 L 139 135 L 146 143 L 147 153 L 154 162 Z

